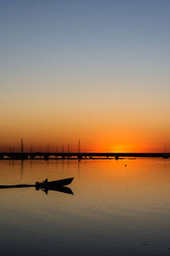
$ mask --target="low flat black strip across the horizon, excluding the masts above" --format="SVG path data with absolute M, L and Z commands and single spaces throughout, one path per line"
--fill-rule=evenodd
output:
M 170 158 L 170 153 L 53 153 L 53 152 L 15 152 L 15 153 L 0 153 L 0 160 L 50 160 L 50 159 L 121 159 L 121 158 L 136 158 L 136 157 L 154 157 L 154 158 Z

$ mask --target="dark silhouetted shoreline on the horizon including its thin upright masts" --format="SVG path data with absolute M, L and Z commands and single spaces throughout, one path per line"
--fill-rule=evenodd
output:
M 49 147 L 46 146 L 45 151 L 42 151 L 42 146 L 40 151 L 33 151 L 33 144 L 31 143 L 30 152 L 25 150 L 24 140 L 20 139 L 20 151 L 14 151 L 14 147 L 9 147 L 8 152 L 0 153 L 0 160 L 121 160 L 123 158 L 135 159 L 137 157 L 154 157 L 154 158 L 163 158 L 169 159 L 170 152 L 160 152 L 160 153 L 114 153 L 114 152 L 82 152 L 81 150 L 81 141 L 80 138 L 77 142 L 77 151 L 72 151 L 70 144 L 68 144 L 67 150 L 65 150 L 65 145 L 62 145 L 61 151 L 59 152 L 58 147 L 56 147 L 55 152 L 49 151 Z

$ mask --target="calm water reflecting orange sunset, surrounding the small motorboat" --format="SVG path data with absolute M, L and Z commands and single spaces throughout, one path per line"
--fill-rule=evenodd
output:
M 46 177 L 74 195 L 0 190 L 2 255 L 170 255 L 170 160 L 0 161 L 0 184 Z

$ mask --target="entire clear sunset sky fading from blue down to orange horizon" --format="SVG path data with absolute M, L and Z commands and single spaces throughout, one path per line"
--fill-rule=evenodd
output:
M 0 150 L 170 149 L 169 0 L 0 0 Z

